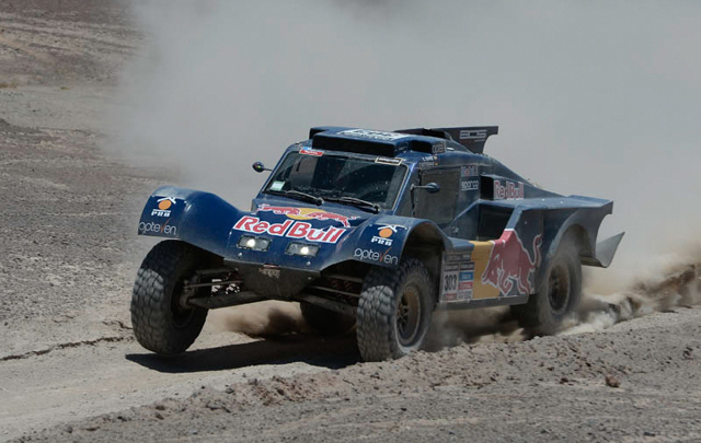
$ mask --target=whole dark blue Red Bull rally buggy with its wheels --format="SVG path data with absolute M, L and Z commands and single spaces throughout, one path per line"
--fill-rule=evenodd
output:
M 623 234 L 597 244 L 613 203 L 564 197 L 483 154 L 497 127 L 312 128 L 287 148 L 250 211 L 162 187 L 139 234 L 168 238 L 138 271 L 131 322 L 173 354 L 210 308 L 297 301 L 321 333 L 355 326 L 365 360 L 422 347 L 436 310 L 510 305 L 556 333 L 582 292 L 582 265 L 607 267 Z

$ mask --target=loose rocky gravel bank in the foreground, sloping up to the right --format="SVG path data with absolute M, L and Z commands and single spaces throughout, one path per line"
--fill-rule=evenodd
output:
M 701 310 L 165 398 L 21 441 L 696 441 Z M 645 440 L 647 441 L 647 440 Z

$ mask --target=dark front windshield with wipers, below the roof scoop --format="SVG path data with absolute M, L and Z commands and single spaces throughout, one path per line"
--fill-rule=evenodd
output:
M 404 165 L 325 152 L 319 156 L 290 152 L 275 171 L 264 193 L 291 190 L 332 201 L 334 198 L 349 197 L 379 205 L 382 209 L 392 209 L 405 175 Z

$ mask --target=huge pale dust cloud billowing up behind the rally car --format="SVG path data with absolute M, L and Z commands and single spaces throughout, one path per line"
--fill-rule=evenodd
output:
M 499 125 L 489 154 L 547 189 L 614 200 L 601 236 L 627 231 L 613 266 L 588 272 L 568 330 L 696 301 L 675 276 L 701 261 L 678 255 L 701 238 L 701 4 L 169 0 L 134 12 L 145 49 L 122 75 L 108 147 L 126 159 L 248 207 L 264 179 L 250 164 L 274 163 L 311 126 Z M 519 339 L 505 316 L 458 323 Z

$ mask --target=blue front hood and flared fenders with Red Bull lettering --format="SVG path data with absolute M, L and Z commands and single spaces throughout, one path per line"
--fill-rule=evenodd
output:
M 265 268 L 273 275 L 274 268 L 287 268 L 313 278 L 347 260 L 395 267 L 413 226 L 425 223 L 334 202 L 317 207 L 267 196 L 254 200 L 252 211 L 241 211 L 210 193 L 164 186 L 147 201 L 138 233 L 187 242 L 240 270 Z M 248 247 L 250 237 L 267 244 Z M 290 249 L 295 243 L 300 245 L 296 252 Z

